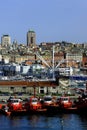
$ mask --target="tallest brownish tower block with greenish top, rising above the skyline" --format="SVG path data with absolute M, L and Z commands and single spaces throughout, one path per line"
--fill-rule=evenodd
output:
M 33 30 L 27 32 L 27 46 L 31 48 L 36 46 L 36 33 Z

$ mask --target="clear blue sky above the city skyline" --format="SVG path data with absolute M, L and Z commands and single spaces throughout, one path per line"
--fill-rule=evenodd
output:
M 0 0 L 0 38 L 26 44 L 29 30 L 37 44 L 87 42 L 87 0 Z

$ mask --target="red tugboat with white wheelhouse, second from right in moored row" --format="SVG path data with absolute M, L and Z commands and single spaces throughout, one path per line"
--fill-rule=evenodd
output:
M 60 112 L 71 113 L 76 111 L 77 107 L 74 106 L 74 103 L 70 100 L 70 97 L 68 96 L 58 97 L 54 104 L 51 104 L 47 107 L 47 112 L 53 114 L 57 114 Z

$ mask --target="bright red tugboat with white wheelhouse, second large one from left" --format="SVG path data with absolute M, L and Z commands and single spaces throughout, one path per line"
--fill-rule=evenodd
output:
M 38 100 L 37 97 L 30 97 L 29 101 L 25 103 L 26 111 L 29 113 L 44 113 L 46 112 L 46 109 L 42 107 L 41 102 Z

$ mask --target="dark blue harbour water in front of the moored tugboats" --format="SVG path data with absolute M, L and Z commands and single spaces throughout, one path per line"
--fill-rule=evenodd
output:
M 0 130 L 87 130 L 87 115 L 0 115 Z

